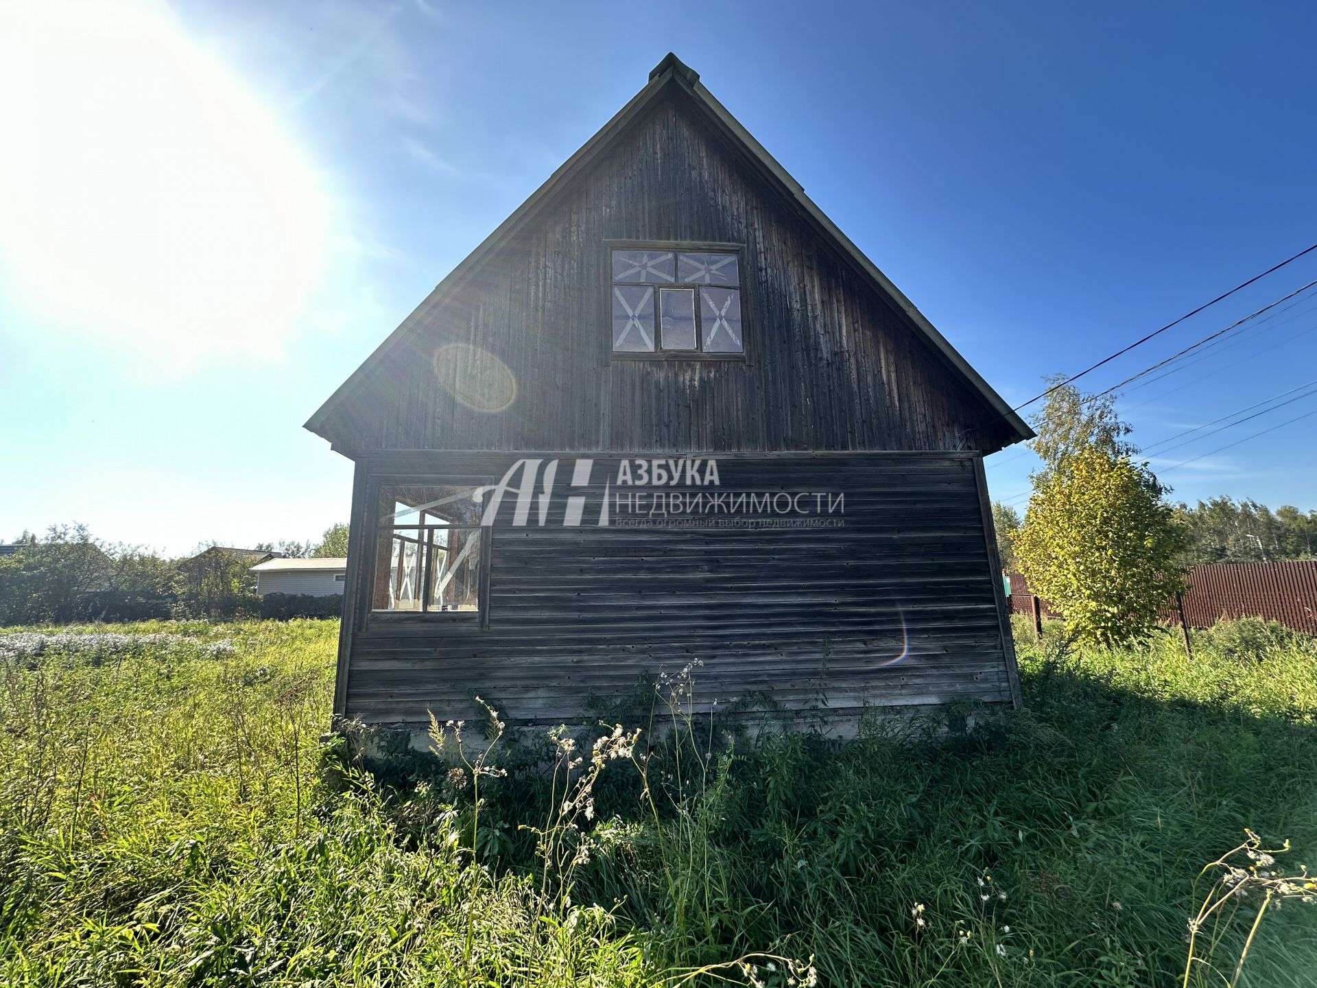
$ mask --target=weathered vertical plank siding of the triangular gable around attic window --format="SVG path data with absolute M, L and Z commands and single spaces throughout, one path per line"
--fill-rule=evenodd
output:
M 745 245 L 747 362 L 610 361 L 608 240 Z M 340 448 L 996 449 L 1010 429 L 680 94 L 657 101 L 511 244 L 435 304 L 327 423 Z M 444 344 L 515 383 L 475 411 Z

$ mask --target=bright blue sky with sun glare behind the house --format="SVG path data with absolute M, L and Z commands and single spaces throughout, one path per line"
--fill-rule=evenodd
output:
M 302 423 L 668 50 L 1011 403 L 1317 242 L 1308 4 L 108 9 L 0 0 L 0 536 L 345 519 L 350 465 Z M 1313 279 L 1317 253 L 1084 383 Z M 1122 397 L 1134 439 L 1317 379 L 1310 296 Z M 1317 416 L 1176 466 L 1312 408 L 1154 468 L 1317 508 Z M 990 458 L 993 495 L 1031 462 Z

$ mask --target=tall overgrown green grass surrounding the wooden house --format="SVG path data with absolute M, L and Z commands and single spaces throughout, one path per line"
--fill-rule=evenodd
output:
M 4 984 L 673 984 L 772 954 L 690 983 L 813 956 L 830 985 L 1169 985 L 1246 827 L 1317 863 L 1317 643 L 1259 622 L 1193 663 L 1019 628 L 1026 710 L 971 730 L 728 754 L 678 721 L 598 779 L 585 739 L 570 811 L 553 743 L 504 736 L 478 815 L 452 763 L 335 769 L 333 622 L 78 631 L 130 638 L 0 660 Z M 1225 980 L 1191 984 L 1229 980 L 1262 898 L 1198 937 Z M 1312 984 L 1314 934 L 1317 905 L 1272 906 L 1239 984 Z

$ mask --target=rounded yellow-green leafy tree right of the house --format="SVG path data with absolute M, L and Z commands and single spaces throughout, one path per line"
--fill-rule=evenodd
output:
M 1064 473 L 1036 487 L 1014 544 L 1030 586 L 1083 642 L 1150 634 L 1184 589 L 1183 534 L 1156 480 L 1098 447 L 1073 453 Z

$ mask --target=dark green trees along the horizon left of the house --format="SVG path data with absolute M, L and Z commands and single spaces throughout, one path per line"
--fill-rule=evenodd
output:
M 257 544 L 288 557 L 346 556 L 348 526 L 328 528 L 319 543 Z M 133 545 L 105 543 L 86 526 L 24 532 L 0 555 L 0 626 L 151 618 L 333 617 L 341 601 L 255 594 L 250 552 L 202 547 L 167 559 Z

